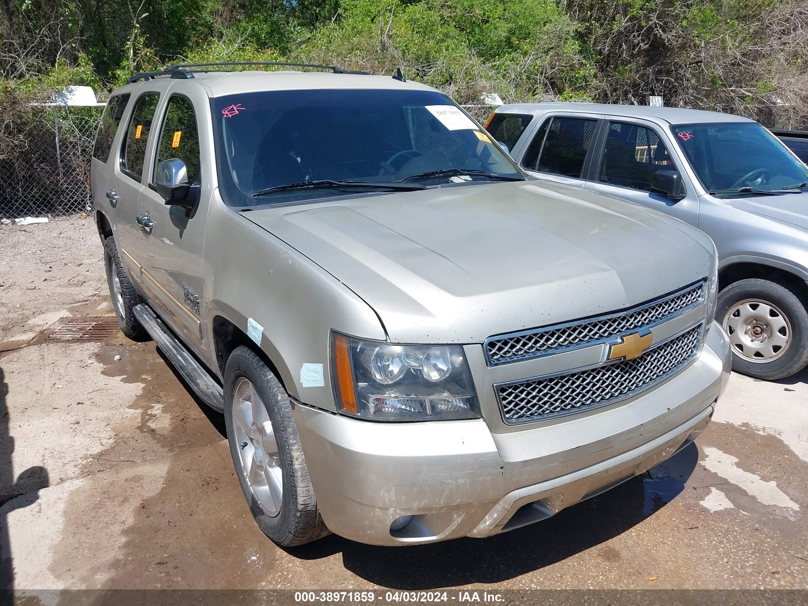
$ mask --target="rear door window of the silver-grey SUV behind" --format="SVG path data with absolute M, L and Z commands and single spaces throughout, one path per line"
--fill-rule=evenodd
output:
M 597 120 L 554 116 L 541 125 L 524 154 L 529 170 L 580 179 Z

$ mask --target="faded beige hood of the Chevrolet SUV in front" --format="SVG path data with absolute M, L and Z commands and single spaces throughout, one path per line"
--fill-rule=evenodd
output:
M 393 343 L 482 343 L 636 305 L 708 276 L 713 253 L 681 221 L 545 181 L 242 215 L 356 292 Z

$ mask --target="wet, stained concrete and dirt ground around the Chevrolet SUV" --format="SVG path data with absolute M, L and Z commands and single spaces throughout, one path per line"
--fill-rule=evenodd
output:
M 733 375 L 697 448 L 540 524 L 279 549 L 154 343 L 48 336 L 114 320 L 91 219 L 0 226 L 0 284 L 0 588 L 808 588 L 808 372 Z

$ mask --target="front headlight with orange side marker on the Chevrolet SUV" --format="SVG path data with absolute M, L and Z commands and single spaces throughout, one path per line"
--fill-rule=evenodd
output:
M 331 334 L 339 410 L 376 421 L 477 419 L 477 393 L 459 345 L 391 345 Z

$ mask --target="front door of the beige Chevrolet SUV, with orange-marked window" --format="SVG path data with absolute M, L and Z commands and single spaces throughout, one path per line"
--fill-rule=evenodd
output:
M 199 86 L 183 85 L 175 82 L 155 116 L 154 147 L 145 170 L 148 186 L 140 198 L 141 216 L 149 221 L 149 229 L 141 234 L 141 264 L 149 301 L 160 308 L 171 328 L 202 354 L 202 251 L 213 162 L 201 158 L 212 156 L 208 134 L 212 131 L 207 95 Z M 179 92 L 180 86 L 183 92 Z M 208 154 L 200 154 L 202 149 Z M 191 183 L 207 182 L 208 187 L 203 187 L 200 200 L 191 208 L 167 205 L 154 187 L 156 166 L 170 158 L 185 163 Z

